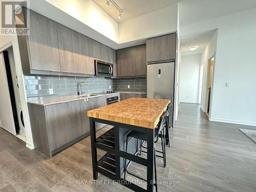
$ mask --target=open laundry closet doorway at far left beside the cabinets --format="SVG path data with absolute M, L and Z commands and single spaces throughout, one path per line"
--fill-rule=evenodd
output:
M 19 96 L 19 86 L 17 81 L 17 74 L 15 70 L 15 61 L 12 46 L 2 52 L 5 76 L 7 83 L 7 90 L 9 91 L 9 102 L 11 105 L 11 112 L 13 117 L 14 129 L 8 130 L 20 139 L 26 141 L 25 125 L 23 119 L 23 111 Z M 8 94 L 8 93 L 5 93 Z

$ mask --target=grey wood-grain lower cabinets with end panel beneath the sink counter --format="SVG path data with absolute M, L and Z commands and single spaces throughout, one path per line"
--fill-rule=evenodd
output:
M 50 105 L 28 103 L 35 148 L 52 157 L 64 148 L 90 135 L 87 111 L 106 105 L 106 98 L 119 93 L 102 95 Z M 96 123 L 96 130 L 105 124 Z

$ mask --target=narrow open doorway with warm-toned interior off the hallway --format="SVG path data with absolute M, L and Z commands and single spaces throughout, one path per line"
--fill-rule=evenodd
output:
M 214 75 L 214 55 L 208 60 L 207 90 L 206 90 L 206 114 L 209 116 L 212 95 L 212 78 Z

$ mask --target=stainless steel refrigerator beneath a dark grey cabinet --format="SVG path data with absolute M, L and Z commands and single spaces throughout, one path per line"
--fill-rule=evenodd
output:
M 147 65 L 147 98 L 170 99 L 174 103 L 175 62 Z M 173 125 L 173 107 L 170 110 L 169 126 Z

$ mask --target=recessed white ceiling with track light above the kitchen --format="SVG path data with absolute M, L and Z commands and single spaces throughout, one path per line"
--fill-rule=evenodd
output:
M 106 0 L 93 1 L 116 20 L 117 23 L 177 4 L 177 0 L 114 0 L 118 7 L 123 11 L 122 17 L 119 19 L 119 11 L 112 3 L 110 3 L 110 6 L 108 7 L 106 6 Z

